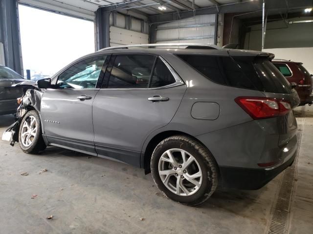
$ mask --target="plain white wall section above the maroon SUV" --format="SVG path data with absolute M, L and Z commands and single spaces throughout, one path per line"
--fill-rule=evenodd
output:
M 313 47 L 305 48 L 274 48 L 263 51 L 275 55 L 275 59 L 287 59 L 294 62 L 302 62 L 303 66 L 313 74 Z

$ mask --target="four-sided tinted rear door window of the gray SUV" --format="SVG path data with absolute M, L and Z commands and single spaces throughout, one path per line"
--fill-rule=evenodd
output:
M 117 55 L 108 88 L 148 88 L 154 61 L 152 55 Z

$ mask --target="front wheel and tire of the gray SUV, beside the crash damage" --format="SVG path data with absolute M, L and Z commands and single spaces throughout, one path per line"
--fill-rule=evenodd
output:
M 26 132 L 29 129 L 30 131 Z M 45 149 L 41 121 L 37 111 L 29 111 L 23 117 L 20 124 L 19 143 L 22 151 L 26 154 L 38 154 Z

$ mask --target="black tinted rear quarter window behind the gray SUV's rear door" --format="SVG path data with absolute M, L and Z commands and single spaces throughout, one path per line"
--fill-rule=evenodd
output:
M 231 57 L 209 55 L 177 55 L 212 81 L 245 89 L 258 88 L 246 77 L 239 65 Z M 255 72 L 254 72 L 255 73 Z

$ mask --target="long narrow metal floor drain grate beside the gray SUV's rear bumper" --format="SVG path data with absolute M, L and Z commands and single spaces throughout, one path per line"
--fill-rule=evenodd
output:
M 301 142 L 303 122 L 304 118 L 298 119 L 298 130 L 300 130 L 297 131 L 298 150 L 292 165 L 283 172 L 284 174 L 281 180 L 277 200 L 271 214 L 272 216 L 269 223 L 268 234 L 286 234 L 288 229 L 291 195 L 294 184 L 295 168 L 298 160 Z

